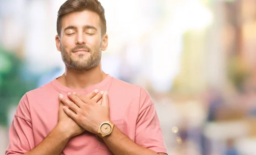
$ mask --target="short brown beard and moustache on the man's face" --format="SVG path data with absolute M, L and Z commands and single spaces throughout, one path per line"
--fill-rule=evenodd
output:
M 78 45 L 70 49 L 69 52 L 61 45 L 61 58 L 67 68 L 88 71 L 99 65 L 102 55 L 101 45 L 102 43 L 92 50 L 85 45 Z M 87 53 L 89 56 L 87 54 L 79 54 L 77 58 L 71 58 L 71 55 L 74 54 L 73 52 L 78 49 L 86 49 L 89 52 Z

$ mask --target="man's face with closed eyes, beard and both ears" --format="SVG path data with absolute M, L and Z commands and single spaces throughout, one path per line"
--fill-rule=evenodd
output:
M 102 38 L 99 15 L 91 11 L 73 12 L 62 18 L 61 36 L 56 46 L 67 68 L 90 70 L 99 65 L 108 36 Z

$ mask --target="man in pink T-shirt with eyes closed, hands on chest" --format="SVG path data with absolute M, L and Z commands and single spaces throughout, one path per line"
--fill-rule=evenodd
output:
M 97 0 L 60 7 L 55 41 L 65 73 L 20 100 L 6 155 L 166 154 L 148 92 L 102 72 L 104 14 Z

